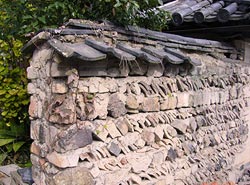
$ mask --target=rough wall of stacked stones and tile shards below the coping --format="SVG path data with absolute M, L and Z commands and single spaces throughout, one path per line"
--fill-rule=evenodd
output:
M 199 76 L 66 76 L 46 45 L 27 69 L 35 184 L 227 182 L 244 151 L 250 69 Z

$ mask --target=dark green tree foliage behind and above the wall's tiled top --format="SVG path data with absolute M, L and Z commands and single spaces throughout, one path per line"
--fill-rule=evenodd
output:
M 70 18 L 107 19 L 120 25 L 154 30 L 167 27 L 169 14 L 152 11 L 158 0 L 0 0 L 0 38 L 22 38 L 44 27 L 58 27 Z M 157 13 L 155 13 L 157 12 Z M 7 33 L 7 35 L 5 35 Z

